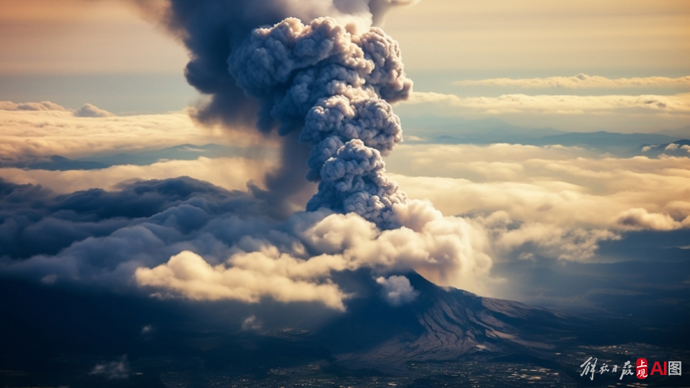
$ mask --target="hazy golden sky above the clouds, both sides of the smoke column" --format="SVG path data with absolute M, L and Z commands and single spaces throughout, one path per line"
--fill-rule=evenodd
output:
M 0 9 L 3 99 L 89 102 L 134 114 L 179 110 L 199 98 L 179 77 L 184 47 L 129 2 L 3 0 Z M 682 128 L 689 22 L 682 0 L 432 0 L 393 9 L 386 31 L 422 93 L 399 114 L 498 117 L 567 131 Z

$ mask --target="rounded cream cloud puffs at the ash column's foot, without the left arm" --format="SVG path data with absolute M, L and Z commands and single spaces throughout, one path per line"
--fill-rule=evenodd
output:
M 403 227 L 378 231 L 354 214 L 331 215 L 302 234 L 304 243 L 338 254 L 345 268 L 415 270 L 444 286 L 486 292 L 493 261 L 488 236 L 480 225 L 444 217 L 429 202 L 409 200 L 394 207 Z

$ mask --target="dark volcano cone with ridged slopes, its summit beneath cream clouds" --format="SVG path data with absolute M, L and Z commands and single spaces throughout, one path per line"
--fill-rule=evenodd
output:
M 353 300 L 344 316 L 319 332 L 338 362 L 399 367 L 480 353 L 541 356 L 586 326 L 574 316 L 439 287 L 416 273 L 404 276 L 419 292 L 412 302 Z

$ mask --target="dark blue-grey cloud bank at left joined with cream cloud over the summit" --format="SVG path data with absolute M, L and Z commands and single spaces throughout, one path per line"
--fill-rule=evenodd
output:
M 285 221 L 268 205 L 189 178 L 56 195 L 2 182 L 0 272 L 190 300 L 306 302 L 342 311 L 336 275 L 417 271 L 485 291 L 492 260 L 480 229 L 428 203 L 395 207 L 403 225 L 321 210 Z

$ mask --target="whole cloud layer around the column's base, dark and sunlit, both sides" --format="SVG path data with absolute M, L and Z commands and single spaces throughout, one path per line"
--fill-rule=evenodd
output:
M 8 126 L 3 135 L 20 150 L 41 142 L 45 150 L 37 149 L 46 153 L 87 152 L 80 131 L 102 136 L 103 149 L 111 142 L 154 147 L 167 133 L 158 128 L 142 140 L 140 129 L 180 117 L 189 127 L 174 129 L 168 141 L 186 142 L 195 131 L 178 113 L 79 118 L 51 104 L 19 105 L 3 114 L 26 131 Z M 271 159 L 202 157 L 97 171 L 3 168 L 0 176 L 34 185 L 3 182 L 2 271 L 46 286 L 79 282 L 164 298 L 272 300 L 334 311 L 357 297 L 339 277 L 360 270 L 383 279 L 382 297 L 392 304 L 414 294 L 395 277 L 408 270 L 491 294 L 501 281 L 491 275 L 497 261 L 606 260 L 599 256 L 604 241 L 688 228 L 689 160 L 613 158 L 561 146 L 403 145 L 388 156 L 392 177 L 440 211 L 416 200 L 398 204 L 392 211 L 403 227 L 384 231 L 357 215 L 324 210 L 277 221 L 255 191 L 227 191 L 244 190 L 270 170 Z M 227 190 L 169 179 L 180 174 Z M 135 181 L 156 178 L 168 180 Z M 87 190 L 94 187 L 106 191 Z

